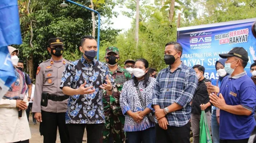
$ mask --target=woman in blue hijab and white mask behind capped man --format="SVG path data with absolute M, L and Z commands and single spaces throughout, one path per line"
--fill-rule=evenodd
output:
M 219 59 L 215 63 L 215 69 L 219 75 L 218 79 L 212 80 L 211 85 L 207 87 L 208 93 L 219 93 L 219 87 L 224 77 L 228 74 L 224 69 L 225 61 L 227 59 Z M 213 142 L 219 143 L 219 109 L 217 107 L 213 107 L 213 112 L 211 115 L 211 132 L 213 135 Z

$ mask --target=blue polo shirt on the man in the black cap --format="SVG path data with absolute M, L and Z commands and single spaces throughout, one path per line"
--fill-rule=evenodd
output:
M 220 139 L 240 140 L 247 139 L 256 125 L 253 110 L 256 101 L 255 84 L 246 71 L 231 78 L 230 75 L 222 80 L 220 86 L 227 105 L 242 105 L 252 112 L 251 115 L 235 115 L 220 110 Z

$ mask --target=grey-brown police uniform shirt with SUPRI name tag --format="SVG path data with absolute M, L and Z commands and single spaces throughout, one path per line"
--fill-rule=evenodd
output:
M 37 68 L 36 84 L 34 91 L 34 100 L 32 112 L 41 112 L 41 110 L 53 113 L 63 113 L 67 110 L 68 99 L 63 101 L 48 100 L 47 107 L 41 106 L 42 92 L 51 95 L 62 96 L 60 82 L 63 70 L 70 61 L 62 59 L 54 61 L 52 58 L 39 64 Z

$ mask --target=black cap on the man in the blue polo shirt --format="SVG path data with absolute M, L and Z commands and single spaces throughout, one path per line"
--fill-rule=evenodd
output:
M 236 56 L 242 60 L 248 61 L 248 53 L 243 47 L 235 47 L 227 54 L 219 54 L 220 58 L 227 59 L 227 57 Z

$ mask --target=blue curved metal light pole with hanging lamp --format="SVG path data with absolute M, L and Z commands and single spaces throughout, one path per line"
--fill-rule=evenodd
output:
M 97 38 L 98 50 L 97 50 L 97 60 L 99 60 L 99 28 L 100 28 L 100 25 L 101 25 L 101 15 L 99 14 L 98 11 L 90 9 L 90 8 L 88 8 L 86 6 L 81 5 L 81 4 L 75 3 L 74 1 L 71 1 L 71 0 L 66 0 L 66 1 L 68 1 L 69 3 L 73 3 L 75 5 L 81 6 L 81 7 L 85 8 L 85 9 L 88 9 L 88 10 L 93 11 L 94 13 L 98 14 L 98 38 Z M 60 4 L 60 6 L 66 7 L 66 6 L 68 6 L 68 4 L 66 4 L 65 1 L 63 1 L 63 3 Z

